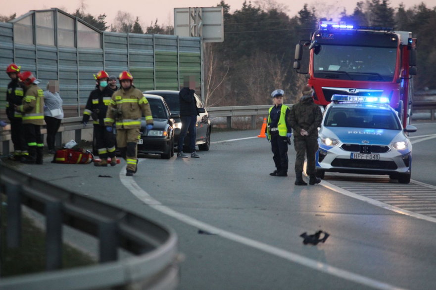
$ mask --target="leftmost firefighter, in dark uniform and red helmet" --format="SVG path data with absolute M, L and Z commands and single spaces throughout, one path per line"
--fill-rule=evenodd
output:
M 14 145 L 12 160 L 20 161 L 26 158 L 27 152 L 26 140 L 24 138 L 24 129 L 22 126 L 22 115 L 15 111 L 14 105 L 21 105 L 24 97 L 23 85 L 20 82 L 20 68 L 16 64 L 10 64 L 6 68 L 6 73 L 10 78 L 6 91 L 6 116 L 10 121 L 10 134 Z

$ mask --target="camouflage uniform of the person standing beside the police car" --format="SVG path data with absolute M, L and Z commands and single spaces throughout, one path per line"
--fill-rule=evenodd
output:
M 307 152 L 307 174 L 315 174 L 315 154 L 318 150 L 318 127 L 322 122 L 321 109 L 313 102 L 312 96 L 303 95 L 300 101 L 294 104 L 289 114 L 290 124 L 294 130 L 293 146 L 296 151 L 295 173 L 303 171 L 304 155 Z M 301 129 L 309 135 L 301 136 Z

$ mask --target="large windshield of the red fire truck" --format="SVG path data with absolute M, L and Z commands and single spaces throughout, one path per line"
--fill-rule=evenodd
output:
M 313 54 L 315 78 L 391 82 L 396 48 L 322 44 Z

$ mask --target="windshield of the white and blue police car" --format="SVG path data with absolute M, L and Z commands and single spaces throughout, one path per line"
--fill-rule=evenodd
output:
M 327 113 L 325 126 L 400 130 L 395 113 L 390 110 L 333 107 Z

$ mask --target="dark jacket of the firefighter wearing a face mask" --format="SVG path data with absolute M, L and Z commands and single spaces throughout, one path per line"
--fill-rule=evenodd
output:
M 88 97 L 82 122 L 88 123 L 89 117 L 91 116 L 94 120 L 94 125 L 104 126 L 104 118 L 106 118 L 107 107 L 111 103 L 112 94 L 113 90 L 109 86 L 100 90 L 97 85 L 97 88 L 93 90 Z

